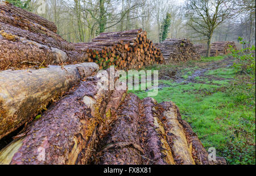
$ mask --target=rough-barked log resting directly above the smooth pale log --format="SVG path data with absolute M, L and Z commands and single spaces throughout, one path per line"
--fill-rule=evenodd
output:
M 60 50 L 0 31 L 0 70 L 82 62 L 77 51 Z

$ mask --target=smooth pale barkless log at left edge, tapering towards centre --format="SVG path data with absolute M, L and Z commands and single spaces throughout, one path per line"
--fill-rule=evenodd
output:
M 96 63 L 0 72 L 0 139 L 98 70 Z

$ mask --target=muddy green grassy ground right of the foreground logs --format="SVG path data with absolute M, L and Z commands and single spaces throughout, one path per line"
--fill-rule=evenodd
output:
M 216 149 L 228 164 L 255 164 L 255 94 L 240 91 L 243 76 L 232 57 L 153 65 L 159 70 L 156 101 L 173 101 L 199 136 L 205 149 Z M 130 91 L 147 97 L 146 91 Z

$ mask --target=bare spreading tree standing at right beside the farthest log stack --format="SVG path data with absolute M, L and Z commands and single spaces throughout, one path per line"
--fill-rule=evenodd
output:
M 186 2 L 187 24 L 207 38 L 207 56 L 214 29 L 233 16 L 234 3 L 229 0 L 188 0 Z

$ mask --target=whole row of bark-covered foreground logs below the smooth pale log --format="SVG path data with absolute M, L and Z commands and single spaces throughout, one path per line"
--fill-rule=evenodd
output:
M 0 164 L 218 164 L 173 102 L 105 91 L 96 85 L 107 75 L 96 77 L 32 121 Z

